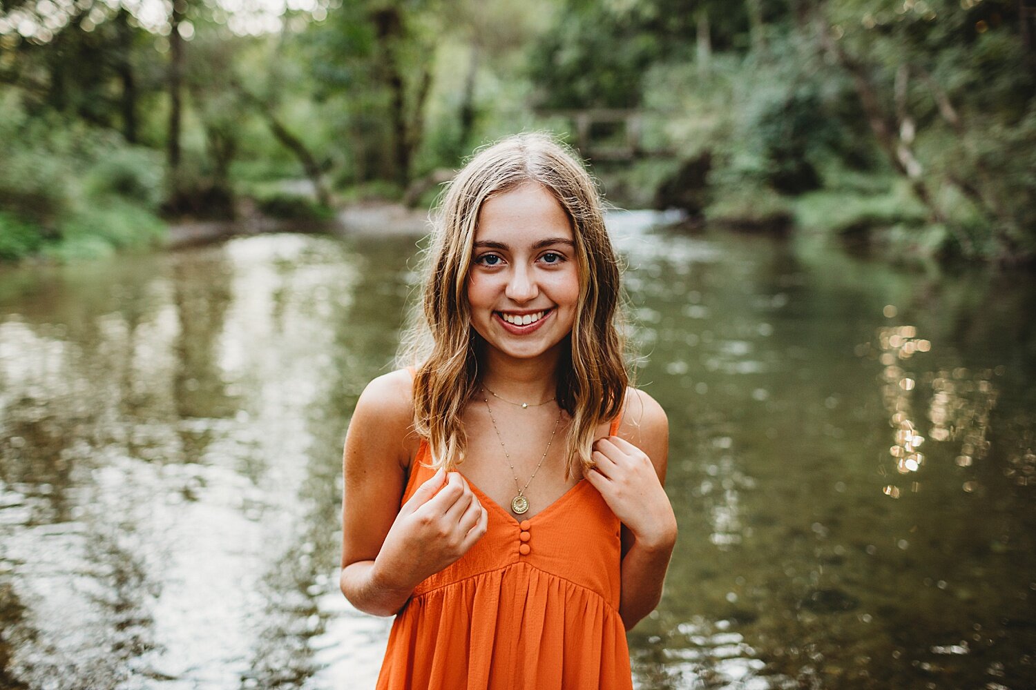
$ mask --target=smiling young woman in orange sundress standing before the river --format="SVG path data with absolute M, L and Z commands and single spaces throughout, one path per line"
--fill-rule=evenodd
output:
M 522 134 L 439 211 L 414 365 L 367 386 L 345 441 L 342 592 L 396 614 L 377 687 L 631 688 L 625 631 L 677 523 L 597 189 Z

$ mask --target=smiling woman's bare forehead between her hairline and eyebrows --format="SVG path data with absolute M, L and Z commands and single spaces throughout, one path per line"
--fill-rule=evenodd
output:
M 557 199 L 536 182 L 491 197 L 479 211 L 474 241 L 520 247 L 545 237 L 573 240 L 572 223 Z

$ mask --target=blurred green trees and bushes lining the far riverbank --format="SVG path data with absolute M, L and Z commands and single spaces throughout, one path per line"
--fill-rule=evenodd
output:
M 0 28 L 0 257 L 136 246 L 155 228 L 140 213 L 230 217 L 234 193 L 324 217 L 283 193 L 304 176 L 346 203 L 398 200 L 514 131 L 571 141 L 566 111 L 591 108 L 642 109 L 640 143 L 674 154 L 596 161 L 616 204 L 1036 257 L 1036 70 L 1012 0 L 318 5 L 326 19 L 289 9 L 283 32 L 235 36 L 230 10 L 186 3 L 175 176 L 169 39 L 134 7 L 97 5 L 49 42 Z

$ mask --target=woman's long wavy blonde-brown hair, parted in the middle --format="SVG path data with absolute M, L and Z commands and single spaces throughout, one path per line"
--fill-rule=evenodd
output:
M 596 427 L 617 416 L 625 399 L 626 300 L 597 186 L 579 158 L 552 137 L 509 137 L 478 152 L 440 197 L 424 258 L 422 301 L 410 314 L 397 357 L 400 366 L 416 369 L 413 425 L 428 440 L 435 469 L 450 470 L 463 460 L 461 413 L 480 387 L 479 352 L 485 341 L 471 327 L 467 301 L 479 213 L 493 196 L 526 182 L 554 196 L 575 239 L 579 299 L 555 393 L 572 418 L 566 478 L 593 464 Z

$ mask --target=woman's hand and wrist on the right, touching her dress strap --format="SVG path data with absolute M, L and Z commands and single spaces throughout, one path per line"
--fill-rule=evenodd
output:
M 594 442 L 595 467 L 583 472 L 611 512 L 648 548 L 671 547 L 677 518 L 651 458 L 618 437 Z

